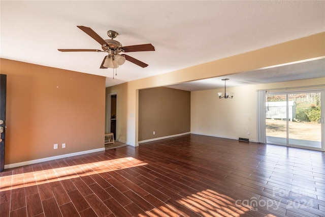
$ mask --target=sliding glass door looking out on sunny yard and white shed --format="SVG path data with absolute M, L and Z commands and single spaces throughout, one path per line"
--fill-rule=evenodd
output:
M 267 94 L 266 142 L 325 150 L 324 90 Z

